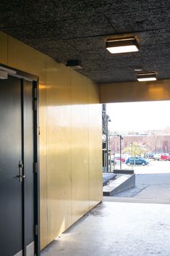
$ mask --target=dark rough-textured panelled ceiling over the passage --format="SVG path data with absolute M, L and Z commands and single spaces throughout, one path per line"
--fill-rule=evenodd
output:
M 136 80 L 135 68 L 170 78 L 170 0 L 0 1 L 0 30 L 97 83 Z M 140 51 L 110 54 L 109 35 L 132 34 Z

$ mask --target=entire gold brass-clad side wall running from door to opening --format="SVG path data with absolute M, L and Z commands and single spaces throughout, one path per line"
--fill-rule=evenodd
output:
M 102 199 L 98 86 L 4 33 L 0 62 L 40 79 L 43 248 Z

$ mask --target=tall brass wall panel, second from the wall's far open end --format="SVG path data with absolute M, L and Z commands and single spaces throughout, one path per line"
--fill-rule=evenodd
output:
M 89 210 L 88 78 L 72 72 L 72 221 Z

